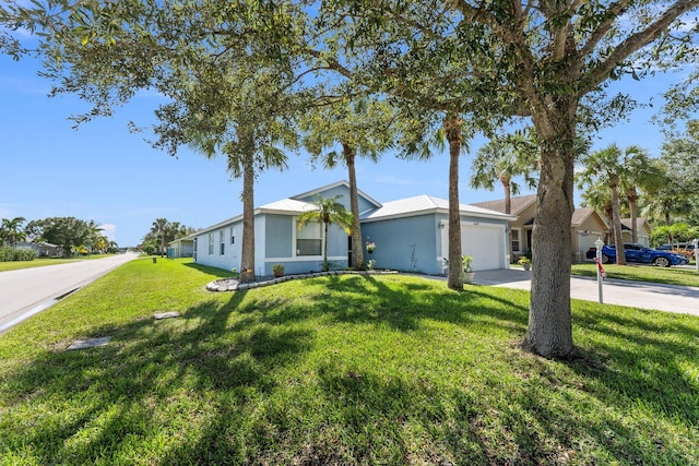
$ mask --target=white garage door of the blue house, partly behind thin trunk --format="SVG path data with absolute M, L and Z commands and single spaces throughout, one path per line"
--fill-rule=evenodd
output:
M 447 228 L 441 236 L 442 256 L 449 255 Z M 461 253 L 471 255 L 474 271 L 505 268 L 505 227 L 490 224 L 461 224 Z

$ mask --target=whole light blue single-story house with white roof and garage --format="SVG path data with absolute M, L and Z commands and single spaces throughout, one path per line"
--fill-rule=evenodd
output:
M 337 202 L 350 210 L 350 186 L 340 181 L 293 198 L 263 205 L 254 211 L 254 273 L 271 275 L 272 265 L 284 264 L 285 273 L 319 271 L 323 244 L 328 260 L 336 268 L 351 266 L 352 241 L 336 225 L 328 238 L 322 224 L 298 229 L 298 216 L 317 208 L 316 194 L 341 195 Z M 430 196 L 411 198 L 381 204 L 359 191 L 363 243 L 376 243 L 365 260 L 377 267 L 440 274 L 447 255 L 448 202 Z M 507 224 L 513 216 L 461 205 L 463 253 L 473 255 L 475 270 L 507 268 L 509 247 Z M 240 266 L 242 216 L 229 218 L 181 240 L 193 241 L 194 261 L 230 270 Z

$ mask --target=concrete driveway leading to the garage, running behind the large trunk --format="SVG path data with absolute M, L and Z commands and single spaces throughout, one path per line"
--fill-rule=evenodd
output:
M 473 282 L 475 285 L 490 285 L 529 290 L 531 289 L 531 272 L 510 268 L 476 272 Z M 597 279 L 571 276 L 570 297 L 596 302 Z M 619 304 L 699 315 L 699 288 L 695 287 L 605 278 L 603 298 L 605 304 Z

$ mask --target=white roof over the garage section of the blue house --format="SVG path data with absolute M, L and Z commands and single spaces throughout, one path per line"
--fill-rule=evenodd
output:
M 505 220 L 513 220 L 517 218 L 512 215 L 506 215 L 500 212 L 470 204 L 459 204 L 459 210 L 462 215 L 473 215 L 476 217 L 500 218 Z M 410 217 L 430 212 L 449 212 L 449 201 L 423 194 L 414 198 L 384 202 L 380 208 L 364 215 L 362 220 L 371 222 L 387 218 Z

